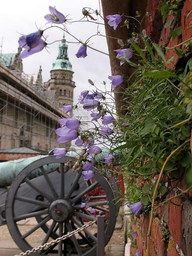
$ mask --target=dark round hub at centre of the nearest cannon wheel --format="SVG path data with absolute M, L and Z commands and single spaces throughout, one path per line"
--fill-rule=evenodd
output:
M 64 199 L 55 200 L 49 206 L 49 214 L 56 222 L 65 222 L 71 219 L 73 212 L 71 204 Z

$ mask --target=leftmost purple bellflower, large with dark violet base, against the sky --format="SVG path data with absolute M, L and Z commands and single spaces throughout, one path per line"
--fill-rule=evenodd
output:
M 24 59 L 36 52 L 40 52 L 46 46 L 46 43 L 41 38 L 43 30 L 36 31 L 29 35 L 23 35 L 19 38 L 18 44 L 24 48 L 19 56 L 20 59 Z

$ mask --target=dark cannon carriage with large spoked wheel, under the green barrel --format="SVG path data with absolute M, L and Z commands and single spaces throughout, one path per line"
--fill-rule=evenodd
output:
M 40 234 L 38 246 L 42 246 L 90 221 L 96 221 L 93 226 L 78 234 L 31 254 L 96 255 L 99 212 L 105 216 L 105 244 L 109 242 L 114 231 L 119 211 L 117 180 L 109 177 L 110 175 L 102 176 L 99 170 L 93 167 L 95 175 L 86 181 L 81 171 L 73 172 L 72 167 L 77 160 L 75 157 L 37 158 L 39 159 L 33 157 L 26 160 L 26 163 L 23 163 L 26 166 L 18 170 L 19 173 L 11 184 L 7 178 L 3 181 L 1 175 L 0 225 L 7 224 L 13 240 L 25 252 L 34 248 L 31 243 L 34 236 Z M 9 176 L 4 172 L 3 175 Z M 36 219 L 34 227 L 27 231 L 22 230 L 18 224 L 31 217 Z

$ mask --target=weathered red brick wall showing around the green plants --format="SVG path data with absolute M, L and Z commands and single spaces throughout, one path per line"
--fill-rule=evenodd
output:
M 192 10 L 192 0 L 186 0 L 182 10 L 181 21 L 179 21 L 174 29 L 182 26 L 182 35 L 176 37 L 171 42 L 170 28 L 164 28 L 162 24 L 162 16 L 158 10 L 159 0 L 149 0 L 148 12 L 151 13 L 150 18 L 146 22 L 147 34 L 159 45 L 173 47 L 176 44 L 184 42 L 192 37 L 192 13 L 186 18 L 189 11 Z M 167 21 L 173 17 L 168 16 Z M 179 60 L 175 50 L 166 53 L 166 59 L 169 60 L 174 56 L 174 64 Z M 173 68 L 174 65 L 169 66 Z M 182 190 L 186 189 L 184 180 L 181 179 L 176 187 Z M 178 191 L 174 190 L 170 196 L 174 196 Z M 161 221 L 163 219 L 163 222 Z M 133 223 L 136 223 L 135 225 Z M 146 241 L 149 225 L 149 216 L 141 216 L 140 221 L 132 222 L 132 229 L 138 233 L 138 237 L 132 238 L 135 241 L 131 246 L 131 255 L 135 255 L 135 251 L 140 251 L 145 256 Z M 163 230 L 162 227 L 165 227 Z M 163 240 L 165 230 L 169 230 L 170 236 Z M 134 245 L 134 246 L 133 246 Z M 192 255 L 192 193 L 186 196 L 176 198 L 166 205 L 158 209 L 158 215 L 153 219 L 152 231 L 150 237 L 150 256 L 191 256 Z

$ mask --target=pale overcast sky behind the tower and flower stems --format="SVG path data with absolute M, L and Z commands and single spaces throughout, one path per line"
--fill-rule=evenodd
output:
M 49 13 L 49 5 L 55 6 L 58 11 L 64 14 L 71 21 L 79 21 L 83 18 L 82 9 L 91 7 L 99 10 L 98 0 L 6 0 L 1 1 L 0 15 L 0 45 L 2 45 L 2 53 L 12 53 L 18 50 L 18 38 L 20 34 L 30 34 L 37 31 L 37 28 L 45 29 L 49 25 L 45 25 L 44 16 Z M 94 18 L 97 18 L 94 15 Z M 88 37 L 97 33 L 97 25 L 90 22 L 75 22 L 67 24 L 67 30 L 78 39 L 85 42 Z M 90 21 L 90 19 L 89 19 Z M 101 18 L 100 23 L 103 23 Z M 37 26 L 37 28 L 36 28 Z M 59 25 L 62 27 L 61 25 Z M 99 26 L 99 31 L 104 35 L 104 26 Z M 20 34 L 19 34 L 20 33 Z M 44 31 L 47 42 L 51 43 L 62 39 L 63 31 L 58 28 L 51 28 Z M 67 41 L 76 42 L 75 39 L 66 34 Z M 92 37 L 89 44 L 91 47 L 108 53 L 106 38 L 101 36 Z M 49 45 L 49 49 L 31 55 L 23 59 L 23 71 L 27 74 L 37 73 L 39 66 L 42 66 L 43 81 L 46 82 L 50 78 L 50 70 L 52 63 L 58 55 L 59 42 Z M 110 81 L 108 76 L 111 75 L 109 57 L 90 48 L 87 49 L 87 57 L 77 58 L 75 53 L 78 51 L 80 44 L 68 44 L 68 56 L 73 65 L 73 81 L 76 83 L 74 103 L 77 102 L 80 91 L 90 89 L 88 79 L 96 81 L 98 88 L 103 88 L 103 81 L 107 81 L 107 88 L 110 90 Z

